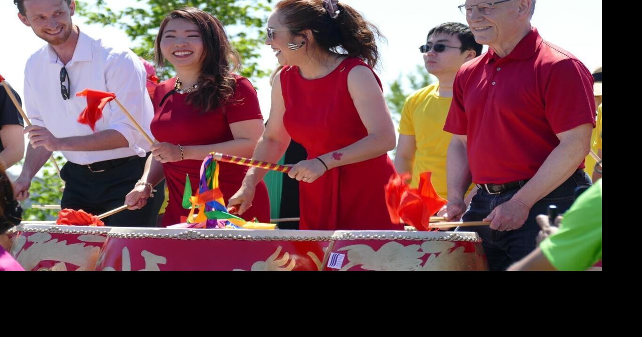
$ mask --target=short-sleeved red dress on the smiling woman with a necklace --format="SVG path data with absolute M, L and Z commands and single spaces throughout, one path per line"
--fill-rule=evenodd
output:
M 204 114 L 187 105 L 185 101 L 187 94 L 173 93 L 166 97 L 169 91 L 174 89 L 176 78 L 160 83 L 156 87 L 153 98 L 155 114 L 151 129 L 154 138 L 159 142 L 182 146 L 217 144 L 234 139 L 230 130 L 231 123 L 250 119 L 263 120 L 259 99 L 252 83 L 241 76 L 235 77 L 234 101 L 238 103 L 219 107 Z M 163 98 L 165 98 L 164 101 L 162 101 Z M 161 101 L 162 105 L 160 105 Z M 202 160 L 186 159 L 163 164 L 166 186 L 169 189 L 169 203 L 162 220 L 164 227 L 180 223 L 180 217 L 189 214 L 189 209 L 182 207 L 185 176 L 189 175 L 192 191 L 198 191 L 202 162 Z M 241 187 L 248 168 L 225 162 L 218 165 L 220 165 L 220 189 L 227 205 L 230 196 Z M 257 185 L 252 207 L 243 213 L 242 217 L 248 221 L 256 217 L 261 222 L 270 222 L 270 198 L 264 182 Z

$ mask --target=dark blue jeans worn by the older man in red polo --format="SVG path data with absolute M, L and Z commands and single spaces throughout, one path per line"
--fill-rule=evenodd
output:
M 590 185 L 589 175 L 584 171 L 576 171 L 568 180 L 533 205 L 528 212 L 528 219 L 519 229 L 499 232 L 490 229 L 489 226 L 478 226 L 458 227 L 455 231 L 477 232 L 483 240 L 482 245 L 488 258 L 490 270 L 506 270 L 508 266 L 535 250 L 535 238 L 540 230 L 539 225 L 535 222 L 535 217 L 546 214 L 549 205 L 557 206 L 559 214 L 564 214 L 575 201 L 575 189 Z M 482 221 L 495 207 L 510 200 L 517 191 L 519 189 L 501 194 L 490 194 L 479 189 L 477 194 L 473 196 L 462 221 Z

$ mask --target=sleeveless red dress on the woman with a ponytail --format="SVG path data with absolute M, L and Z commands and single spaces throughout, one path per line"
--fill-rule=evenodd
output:
M 368 67 L 358 58 L 347 58 L 332 73 L 316 80 L 302 78 L 297 67 L 281 71 L 283 123 L 292 139 L 306 148 L 308 159 L 340 150 L 368 135 L 348 91 L 348 74 L 358 65 Z M 392 161 L 384 154 L 330 169 L 311 184 L 300 182 L 300 229 L 403 230 L 402 225 L 390 221 L 386 208 L 384 186 L 394 172 Z

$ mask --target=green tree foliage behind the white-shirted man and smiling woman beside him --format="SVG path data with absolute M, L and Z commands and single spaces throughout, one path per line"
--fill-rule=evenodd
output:
M 119 0 L 120 1 L 120 0 Z M 154 39 L 160 22 L 180 6 L 193 6 L 212 13 L 226 26 L 232 45 L 241 55 L 241 76 L 260 78 L 271 69 L 259 69 L 257 58 L 265 40 L 265 24 L 272 10 L 272 0 L 136 0 L 124 10 L 112 10 L 105 0 L 77 1 L 77 13 L 88 24 L 116 26 L 125 31 L 132 41 L 130 48 L 147 60 L 153 59 Z M 230 33 L 234 31 L 234 33 Z M 169 78 L 174 71 L 171 64 L 157 69 L 159 78 Z M 58 153 L 60 167 L 64 157 Z M 52 220 L 57 210 L 31 209 L 29 205 L 58 205 L 62 198 L 62 180 L 51 162 L 47 162 L 31 182 L 30 200 L 24 205 L 24 220 Z

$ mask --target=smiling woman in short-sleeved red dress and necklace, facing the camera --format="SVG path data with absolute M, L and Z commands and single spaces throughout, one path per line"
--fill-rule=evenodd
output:
M 189 7 L 169 13 L 160 24 L 155 53 L 156 63 L 162 67 L 164 61 L 170 62 L 177 77 L 156 88 L 151 129 L 159 143 L 152 146 L 143 177 L 126 203 L 130 209 L 143 207 L 152 186 L 165 178 L 169 203 L 162 225 L 167 227 L 182 222 L 180 217 L 189 213 L 182 207 L 186 175 L 192 191 L 198 191 L 200 166 L 209 153 L 251 157 L 264 126 L 252 83 L 230 71 L 238 69 L 239 58 L 218 19 Z M 219 186 L 227 203 L 247 168 L 219 165 Z M 269 222 L 265 183 L 259 182 L 256 194 L 243 218 Z

